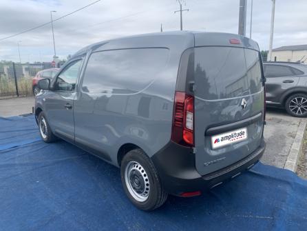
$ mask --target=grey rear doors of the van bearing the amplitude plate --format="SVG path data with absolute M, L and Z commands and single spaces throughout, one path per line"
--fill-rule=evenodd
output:
M 262 139 L 264 87 L 259 52 L 195 48 L 195 165 L 202 175 L 240 161 Z

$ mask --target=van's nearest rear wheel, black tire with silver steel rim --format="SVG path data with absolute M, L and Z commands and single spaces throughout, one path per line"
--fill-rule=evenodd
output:
M 154 163 L 142 150 L 134 149 L 125 154 L 120 175 L 127 197 L 140 210 L 154 210 L 167 200 Z

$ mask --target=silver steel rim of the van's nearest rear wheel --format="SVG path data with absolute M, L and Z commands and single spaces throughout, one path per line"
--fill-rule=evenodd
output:
M 144 202 L 149 197 L 149 178 L 145 169 L 136 161 L 130 161 L 125 168 L 125 183 L 136 201 Z

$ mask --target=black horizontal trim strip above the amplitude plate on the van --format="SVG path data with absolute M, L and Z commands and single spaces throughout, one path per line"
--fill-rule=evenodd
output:
M 223 132 L 228 132 L 229 130 L 235 130 L 237 128 L 246 127 L 248 125 L 251 125 L 252 123 L 255 123 L 257 121 L 262 120 L 262 112 L 259 114 L 256 114 L 253 117 L 249 117 L 247 119 L 243 119 L 242 121 L 237 121 L 235 123 L 229 123 L 225 125 L 220 125 L 213 128 L 208 128 L 205 132 L 205 136 L 212 136 L 214 134 L 220 134 Z

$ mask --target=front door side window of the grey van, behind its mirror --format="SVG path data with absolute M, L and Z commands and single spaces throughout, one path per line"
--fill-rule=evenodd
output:
M 55 90 L 73 91 L 82 59 L 73 61 L 56 78 Z

